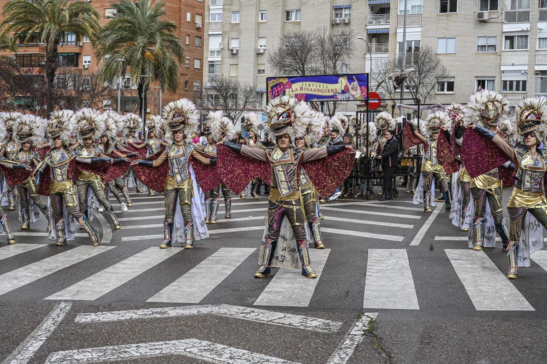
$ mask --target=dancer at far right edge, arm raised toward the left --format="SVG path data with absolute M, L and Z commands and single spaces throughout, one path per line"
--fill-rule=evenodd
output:
M 475 123 L 469 124 L 475 132 L 492 140 L 518 166 L 516 184 L 507 204 L 510 218 L 507 275 L 509 279 L 518 277 L 518 267 L 530 266 L 529 255 L 543 247 L 541 234 L 533 241 L 529 236 L 530 233 L 523 234 L 521 237 L 525 225 L 535 225 L 531 221 L 533 217 L 547 228 L 547 204 L 544 197 L 547 153 L 539 149 L 547 131 L 545 98 L 523 100 L 515 108 L 515 117 L 517 140 L 521 143 L 515 148 L 492 130 Z

